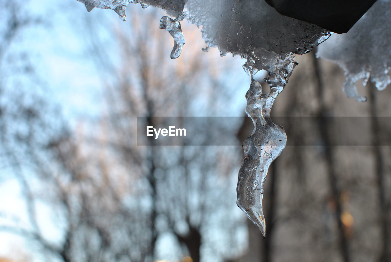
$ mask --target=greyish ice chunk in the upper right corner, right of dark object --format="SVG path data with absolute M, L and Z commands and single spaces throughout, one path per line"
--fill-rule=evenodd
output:
M 365 101 L 356 83 L 368 80 L 383 90 L 391 83 L 391 1 L 378 0 L 346 34 L 334 34 L 319 46 L 317 56 L 338 63 L 345 71 L 348 97 Z

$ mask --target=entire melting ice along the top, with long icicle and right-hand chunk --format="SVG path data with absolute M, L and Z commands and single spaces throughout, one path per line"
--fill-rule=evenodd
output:
M 265 1 L 248 0 L 77 0 L 86 5 L 112 9 L 126 20 L 125 9 L 131 3 L 140 3 L 165 9 L 160 28 L 174 38 L 171 58 L 181 53 L 185 43 L 179 21 L 180 14 L 202 28 L 206 48 L 218 47 L 221 55 L 227 52 L 247 59 L 243 66 L 251 77 L 246 94 L 246 112 L 253 120 L 254 131 L 243 144 L 245 158 L 239 171 L 237 204 L 265 235 L 262 212 L 264 181 L 273 160 L 285 147 L 287 137 L 282 126 L 271 121 L 273 102 L 283 90 L 293 68 L 297 65 L 294 54 L 309 52 L 331 34 L 316 25 L 279 14 Z M 347 80 L 344 84 L 348 96 L 363 100 L 355 90 L 357 79 L 376 83 L 384 89 L 391 82 L 391 37 L 389 8 L 391 0 L 378 0 L 368 13 L 345 35 L 334 35 L 319 49 L 318 55 L 339 62 Z M 380 15 L 379 15 L 380 14 Z M 348 48 L 349 47 L 349 48 Z M 260 83 L 253 79 L 256 72 L 266 70 L 270 93 L 263 93 Z

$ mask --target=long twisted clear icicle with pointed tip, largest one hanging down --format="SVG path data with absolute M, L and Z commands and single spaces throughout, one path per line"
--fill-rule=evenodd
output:
M 253 54 L 254 56 L 254 54 Z M 256 56 L 255 56 L 256 57 Z M 251 77 L 262 68 L 262 59 L 248 57 L 248 63 L 243 68 Z M 267 67 L 270 76 L 267 78 L 270 93 L 262 93 L 260 83 L 251 79 L 250 89 L 246 93 L 246 113 L 253 120 L 254 130 L 243 143 L 244 160 L 239 170 L 237 185 L 237 205 L 266 235 L 265 217 L 262 211 L 264 182 L 271 163 L 281 154 L 287 142 L 287 136 L 282 126 L 274 124 L 270 118 L 274 100 L 282 92 L 294 66 L 297 63 L 291 56 L 275 56 L 278 62 L 271 68 Z M 256 66 L 257 61 L 258 66 Z M 271 60 L 273 61 L 273 60 Z M 247 66 L 246 66 L 247 65 Z

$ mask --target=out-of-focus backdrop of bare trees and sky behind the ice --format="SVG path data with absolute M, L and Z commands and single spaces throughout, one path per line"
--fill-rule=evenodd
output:
M 240 146 L 136 145 L 139 116 L 237 116 L 243 141 L 244 59 L 203 52 L 183 21 L 171 60 L 152 7 L 122 22 L 75 0 L 0 3 L 0 261 L 391 261 L 390 130 L 376 118 L 391 116 L 390 88 L 356 102 L 338 65 L 296 56 L 273 115 L 317 128 L 285 126 L 297 145 L 269 170 L 262 239 L 236 206 Z M 330 146 L 324 116 L 371 117 L 377 146 Z

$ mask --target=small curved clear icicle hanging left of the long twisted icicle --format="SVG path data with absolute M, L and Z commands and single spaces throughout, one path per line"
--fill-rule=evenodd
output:
M 185 36 L 183 35 L 181 22 L 183 20 L 183 15 L 178 15 L 174 20 L 168 16 L 163 16 L 160 19 L 160 29 L 166 29 L 170 35 L 174 38 L 174 47 L 171 51 L 171 59 L 178 58 L 182 52 L 182 47 L 185 44 Z

